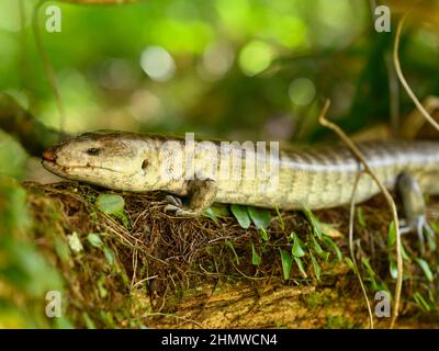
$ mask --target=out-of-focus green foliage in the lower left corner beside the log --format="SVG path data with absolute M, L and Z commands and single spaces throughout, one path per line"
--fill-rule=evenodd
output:
M 0 328 L 48 327 L 45 296 L 61 292 L 63 281 L 27 236 L 31 222 L 24 189 L 3 176 L 0 223 Z

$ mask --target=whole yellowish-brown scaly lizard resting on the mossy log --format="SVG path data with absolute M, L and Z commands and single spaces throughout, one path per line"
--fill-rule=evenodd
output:
M 189 161 L 187 154 L 181 154 L 187 150 L 184 143 L 184 138 L 173 136 L 90 132 L 48 148 L 43 152 L 42 163 L 63 178 L 108 189 L 165 191 L 170 194 L 165 210 L 181 216 L 199 216 L 214 202 L 285 211 L 342 206 L 351 201 L 359 172 L 356 203 L 380 192 L 372 177 L 362 173 L 363 166 L 342 145 L 280 150 L 275 156 L 266 154 L 263 169 L 267 171 L 273 162 L 278 170 L 272 186 L 271 173 L 244 177 L 248 149 L 237 146 L 235 154 L 219 157 L 215 162 L 215 152 L 221 155 L 222 144 L 212 141 L 212 150 L 196 140 L 193 143 L 196 151 Z M 416 230 L 424 251 L 423 231 L 434 234 L 426 220 L 423 194 L 439 194 L 439 143 L 376 140 L 361 141 L 358 146 L 380 181 L 401 195 L 405 212 L 402 233 Z M 241 161 L 239 177 L 230 177 L 232 173 L 219 177 L 212 171 L 230 166 L 232 157 Z M 191 170 L 195 169 L 194 177 L 189 177 L 189 162 L 193 163 Z M 164 177 L 170 173 L 172 177 Z M 179 196 L 189 196 L 189 204 L 183 205 Z

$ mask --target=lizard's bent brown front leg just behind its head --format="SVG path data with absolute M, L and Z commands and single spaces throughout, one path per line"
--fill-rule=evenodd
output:
M 166 205 L 165 211 L 175 211 L 178 216 L 200 216 L 215 201 L 217 189 L 214 180 L 193 180 L 189 188 L 189 206 L 183 206 L 181 201 L 173 196 L 167 196 L 171 204 Z

